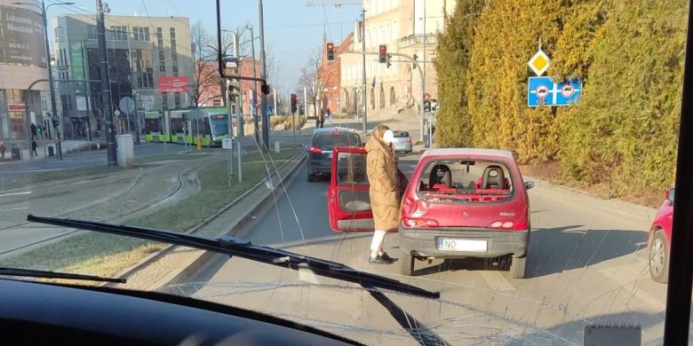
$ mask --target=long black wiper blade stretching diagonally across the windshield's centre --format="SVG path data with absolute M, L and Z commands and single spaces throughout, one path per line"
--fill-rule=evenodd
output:
M 427 291 L 426 289 L 405 284 L 395 279 L 389 279 L 377 274 L 371 274 L 370 272 L 357 271 L 354 268 L 342 263 L 326 261 L 311 256 L 299 255 L 279 248 L 255 245 L 248 240 L 242 240 L 230 236 L 222 236 L 213 239 L 192 234 L 167 232 L 144 227 L 104 224 L 92 221 L 33 215 L 28 215 L 27 221 L 40 224 L 53 224 L 63 227 L 78 228 L 93 232 L 110 233 L 145 240 L 154 240 L 189 248 L 199 248 L 227 256 L 238 256 L 256 262 L 273 264 L 292 270 L 309 269 L 315 272 L 317 275 L 352 282 L 366 288 L 383 288 L 408 295 L 417 295 L 433 299 L 440 298 L 440 292 Z

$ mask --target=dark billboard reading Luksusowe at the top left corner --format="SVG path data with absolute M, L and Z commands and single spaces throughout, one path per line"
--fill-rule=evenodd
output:
M 44 19 L 39 13 L 0 6 L 0 63 L 46 67 Z

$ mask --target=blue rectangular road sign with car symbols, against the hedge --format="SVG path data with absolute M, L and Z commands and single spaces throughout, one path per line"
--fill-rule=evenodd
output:
M 530 77 L 527 83 L 527 106 L 569 106 L 582 96 L 582 81 L 574 78 L 562 83 L 552 77 Z

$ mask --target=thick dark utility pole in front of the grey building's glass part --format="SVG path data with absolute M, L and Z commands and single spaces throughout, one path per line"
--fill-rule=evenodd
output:
M 108 77 L 108 58 L 106 51 L 106 26 L 104 15 L 110 9 L 101 6 L 101 0 L 96 0 L 96 29 L 99 36 L 99 52 L 101 59 L 101 91 L 103 100 L 103 114 L 106 117 L 106 152 L 108 154 L 108 167 L 116 167 L 116 134 L 113 129 L 113 110 L 111 109 L 111 86 Z

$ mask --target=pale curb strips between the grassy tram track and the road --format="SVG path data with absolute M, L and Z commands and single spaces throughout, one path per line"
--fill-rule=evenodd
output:
M 303 157 L 300 157 L 301 155 L 303 155 Z M 296 159 L 299 158 L 299 157 L 300 157 L 300 159 L 299 159 L 298 161 L 296 161 Z M 202 223 L 198 224 L 198 225 L 195 226 L 193 229 L 188 230 L 186 233 L 188 233 L 188 234 L 189 234 L 189 233 L 194 233 L 196 230 L 198 230 L 200 227 L 202 227 L 203 224 L 208 223 L 208 222 L 211 221 L 213 218 L 215 218 L 215 217 L 219 216 L 220 214 L 226 212 L 228 208 L 231 208 L 231 207 L 233 207 L 234 205 L 238 204 L 239 202 L 243 201 L 244 198 L 246 198 L 246 197 L 247 197 L 248 195 L 250 195 L 251 193 L 256 192 L 259 188 L 263 188 L 264 185 L 266 184 L 268 178 L 276 177 L 277 174 L 281 174 L 281 170 L 282 170 L 282 169 L 284 169 L 285 167 L 287 167 L 288 165 L 290 165 L 292 162 L 295 162 L 295 165 L 294 165 L 293 167 L 291 167 L 291 168 L 289 169 L 289 171 L 286 172 L 285 174 L 283 174 L 283 176 L 282 176 L 282 178 L 283 178 L 282 181 L 284 182 L 284 184 L 286 184 L 287 181 L 291 180 L 291 178 L 292 178 L 293 176 L 295 176 L 295 172 L 298 170 L 298 168 L 300 167 L 301 162 L 303 162 L 304 160 L 306 160 L 306 153 L 305 153 L 304 151 L 299 151 L 299 153 L 296 153 L 295 155 L 291 156 L 291 158 L 290 158 L 288 161 L 284 162 L 280 167 L 278 167 L 274 172 L 272 172 L 272 174 L 270 175 L 270 177 L 264 177 L 264 178 L 263 178 L 262 180 L 260 180 L 257 184 L 253 185 L 250 189 L 248 189 L 245 193 L 243 193 L 243 194 L 241 194 L 240 196 L 236 197 L 236 198 L 234 199 L 234 201 L 229 202 L 226 206 L 224 206 L 223 208 L 219 209 L 218 212 L 216 212 L 216 213 L 213 214 L 212 216 L 206 218 Z M 279 185 L 278 185 L 278 186 L 279 186 Z M 277 189 L 276 186 L 275 186 L 275 188 L 274 188 L 273 190 L 275 190 L 275 189 Z M 269 199 L 269 197 L 272 196 L 272 193 L 271 193 L 271 192 L 272 192 L 273 190 L 267 190 L 267 194 L 266 194 L 264 197 L 261 198 L 261 201 L 259 201 L 259 203 L 258 203 L 254 208 L 251 208 L 249 211 L 247 211 L 246 216 L 249 215 L 249 214 L 251 214 L 251 213 L 253 213 L 253 212 L 254 212 L 255 210 L 257 210 L 257 209 L 262 208 L 262 206 L 264 205 L 264 202 L 267 201 L 267 200 Z M 233 232 L 233 230 L 235 230 L 236 228 L 238 228 L 238 227 L 240 227 L 241 225 L 245 224 L 249 219 L 250 219 L 250 217 L 243 217 L 241 220 L 239 220 L 236 224 L 234 224 L 234 225 L 231 227 L 232 232 Z M 147 256 L 147 257 L 145 257 L 144 259 L 142 259 L 141 261 L 139 261 L 139 263 L 137 263 L 137 264 L 131 266 L 130 268 L 126 268 L 126 269 L 124 269 L 123 271 L 118 272 L 118 273 L 116 274 L 116 277 L 118 277 L 118 278 L 129 278 L 129 277 L 131 277 L 135 272 L 140 271 L 140 270 L 146 268 L 150 263 L 152 263 L 152 262 L 155 261 L 156 259 L 159 259 L 159 258 L 161 258 L 161 257 L 163 257 L 163 256 L 168 255 L 174 248 L 177 248 L 177 246 L 168 245 L 168 246 L 166 246 L 165 248 L 163 248 L 163 249 L 161 249 L 161 250 L 159 250 L 159 251 L 157 251 L 157 252 L 155 252 L 155 253 L 153 253 L 153 254 Z M 199 250 L 199 251 L 201 252 L 200 256 L 195 256 L 195 258 L 193 258 L 192 260 L 187 260 L 186 263 L 181 263 L 181 265 L 179 265 L 178 268 L 176 268 L 176 269 L 174 269 L 173 271 L 169 272 L 167 275 L 165 275 L 165 276 L 163 277 L 163 279 L 157 280 L 153 285 L 151 285 L 150 287 L 148 287 L 147 290 L 155 290 L 156 288 L 166 286 L 166 285 L 168 285 L 170 282 L 176 281 L 177 279 L 180 279 L 180 278 L 184 278 L 184 277 L 189 276 L 192 272 L 194 272 L 194 271 L 196 271 L 197 269 L 199 269 L 199 266 L 203 265 L 203 263 L 205 263 L 206 261 L 208 261 L 209 258 L 210 258 L 212 255 L 214 255 L 214 253 L 211 253 L 211 252 L 209 252 L 209 251 L 202 251 L 202 250 Z M 102 286 L 116 287 L 117 284 L 108 284 L 108 283 L 107 283 L 107 284 L 104 284 L 104 285 L 102 285 Z

